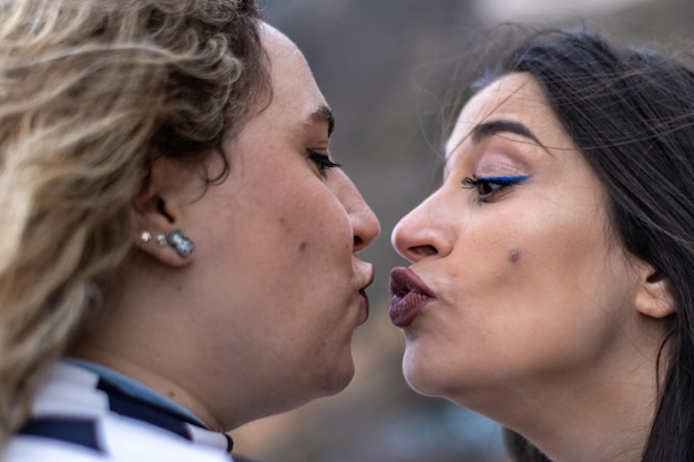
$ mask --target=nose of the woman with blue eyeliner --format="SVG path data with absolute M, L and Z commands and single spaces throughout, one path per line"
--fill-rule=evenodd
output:
M 451 216 L 441 208 L 440 191 L 433 193 L 398 222 L 390 242 L 411 263 L 430 256 L 448 255 L 453 245 Z

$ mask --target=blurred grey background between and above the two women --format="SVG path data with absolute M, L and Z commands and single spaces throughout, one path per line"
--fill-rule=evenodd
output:
M 336 113 L 333 155 L 382 234 L 363 253 L 377 278 L 371 317 L 355 338 L 353 383 L 337 397 L 234 431 L 235 452 L 258 462 L 507 462 L 497 424 L 408 389 L 401 336 L 388 318 L 388 274 L 406 264 L 390 247 L 390 232 L 437 184 L 446 94 L 456 90 L 446 70 L 457 62 L 477 71 L 471 43 L 503 21 L 585 21 L 623 42 L 687 52 L 694 2 L 259 1 L 268 22 L 306 55 Z

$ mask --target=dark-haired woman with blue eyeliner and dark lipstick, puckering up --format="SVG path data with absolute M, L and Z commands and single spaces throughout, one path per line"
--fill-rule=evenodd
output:
M 694 460 L 692 68 L 549 31 L 489 75 L 392 234 L 409 384 L 519 460 Z

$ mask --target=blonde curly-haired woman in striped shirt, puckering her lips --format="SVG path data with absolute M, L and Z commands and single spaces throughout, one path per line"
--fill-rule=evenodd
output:
M 3 461 L 229 461 L 341 390 L 379 233 L 252 0 L 0 3 Z

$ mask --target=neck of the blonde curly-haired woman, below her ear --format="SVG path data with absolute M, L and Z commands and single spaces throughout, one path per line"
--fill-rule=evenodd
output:
M 202 292 L 188 275 L 193 269 L 170 271 L 147 258 L 126 266 L 69 355 L 137 380 L 210 429 L 228 432 L 258 418 L 267 399 L 254 394 L 243 339 L 225 328 L 228 341 L 212 341 L 210 319 L 193 295 Z

